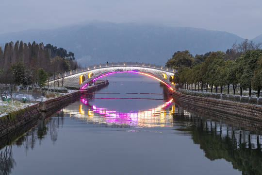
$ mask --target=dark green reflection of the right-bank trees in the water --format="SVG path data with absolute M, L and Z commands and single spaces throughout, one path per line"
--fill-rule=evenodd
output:
M 234 169 L 242 171 L 243 175 L 262 174 L 259 135 L 239 127 L 198 117 L 181 108 L 178 111 L 173 114 L 174 122 L 184 120 L 183 125 L 186 124 L 186 127 L 180 127 L 178 130 L 190 133 L 194 143 L 200 145 L 207 158 L 210 160 L 223 158 L 231 162 Z

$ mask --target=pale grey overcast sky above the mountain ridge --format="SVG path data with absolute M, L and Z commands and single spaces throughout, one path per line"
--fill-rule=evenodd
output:
M 1 0 L 0 34 L 89 20 L 262 35 L 262 0 Z

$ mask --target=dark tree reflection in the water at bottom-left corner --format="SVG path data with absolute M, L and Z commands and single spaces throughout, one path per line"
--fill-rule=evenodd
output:
M 0 175 L 9 175 L 16 166 L 13 158 L 12 146 L 6 146 L 0 153 Z

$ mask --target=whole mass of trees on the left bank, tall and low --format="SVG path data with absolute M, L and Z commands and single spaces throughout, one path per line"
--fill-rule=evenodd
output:
M 14 88 L 43 87 L 48 76 L 80 68 L 74 53 L 51 44 L 23 41 L 0 47 L 0 95 L 11 95 Z

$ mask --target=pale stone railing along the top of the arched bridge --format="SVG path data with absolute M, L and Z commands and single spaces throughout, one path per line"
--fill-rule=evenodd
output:
M 84 72 L 84 71 L 95 70 L 97 68 L 117 67 L 117 66 L 145 67 L 145 68 L 153 68 L 153 69 L 156 69 L 156 70 L 164 70 L 164 71 L 169 71 L 169 72 L 174 72 L 174 73 L 176 72 L 176 70 L 174 70 L 174 69 L 166 68 L 166 67 L 163 67 L 163 66 L 159 66 L 159 65 L 156 65 L 156 64 L 150 64 L 150 63 L 138 63 L 138 62 L 117 62 L 117 63 L 114 63 L 113 62 L 113 63 L 105 63 L 105 64 L 88 66 L 88 67 L 80 68 L 80 69 L 76 69 L 76 70 L 70 70 L 68 72 L 60 73 L 58 75 L 49 77 L 48 81 L 51 82 L 51 81 L 58 80 L 58 79 L 61 79 L 61 78 L 65 78 L 67 76 L 74 75 L 74 74 L 77 74 L 77 73 L 81 73 L 81 72 Z

